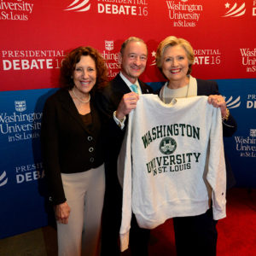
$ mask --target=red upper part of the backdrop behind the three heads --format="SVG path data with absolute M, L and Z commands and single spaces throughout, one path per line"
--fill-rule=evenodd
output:
M 130 36 L 148 44 L 145 82 L 162 81 L 154 53 L 163 38 L 186 38 L 195 49 L 192 75 L 246 79 L 256 73 L 256 2 L 195 0 L 3 0 L 0 3 L 0 90 L 58 86 L 61 59 L 80 45 L 99 49 L 109 79 Z

